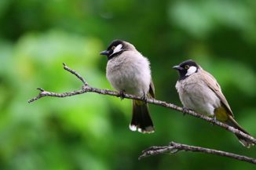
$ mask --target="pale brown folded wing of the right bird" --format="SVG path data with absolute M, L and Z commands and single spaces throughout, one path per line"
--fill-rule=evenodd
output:
M 229 107 L 229 103 L 227 101 L 227 99 L 225 99 L 225 96 L 222 94 L 221 92 L 221 86 L 218 85 L 218 82 L 216 81 L 216 79 L 214 78 L 214 76 L 212 76 L 210 73 L 208 73 L 207 71 L 202 71 L 202 75 L 203 75 L 203 80 L 207 83 L 208 87 L 215 92 L 215 94 L 218 96 L 219 99 L 221 99 L 221 103 L 224 105 L 224 107 L 228 110 L 228 113 L 234 117 L 234 114 L 232 113 L 231 108 Z

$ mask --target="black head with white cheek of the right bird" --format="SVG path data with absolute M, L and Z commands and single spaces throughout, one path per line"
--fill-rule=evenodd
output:
M 189 75 L 196 73 L 198 71 L 199 65 L 197 65 L 197 63 L 193 60 L 185 60 L 173 68 L 179 72 L 179 80 L 182 80 L 187 78 Z

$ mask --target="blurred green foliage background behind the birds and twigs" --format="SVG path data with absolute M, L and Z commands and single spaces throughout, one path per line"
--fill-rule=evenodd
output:
M 1 0 L 0 169 L 255 169 L 207 154 L 137 157 L 170 141 L 256 157 L 232 133 L 206 121 L 150 105 L 154 134 L 131 132 L 131 101 L 87 93 L 62 63 L 93 87 L 112 89 L 107 59 L 113 39 L 131 42 L 152 64 L 156 98 L 181 106 L 171 67 L 196 60 L 214 74 L 236 116 L 256 136 L 256 1 Z

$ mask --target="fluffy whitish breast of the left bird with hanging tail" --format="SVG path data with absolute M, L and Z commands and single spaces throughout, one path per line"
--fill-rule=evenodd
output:
M 151 71 L 148 59 L 136 51 L 125 51 L 107 63 L 107 78 L 121 91 L 142 96 L 148 93 Z

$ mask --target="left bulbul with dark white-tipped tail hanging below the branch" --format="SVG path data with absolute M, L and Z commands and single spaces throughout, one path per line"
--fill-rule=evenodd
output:
M 155 98 L 150 63 L 129 42 L 114 40 L 108 49 L 101 52 L 108 56 L 107 78 L 112 87 L 120 92 L 131 95 Z M 130 130 L 142 133 L 154 132 L 154 125 L 149 114 L 148 104 L 133 99 L 133 117 Z

